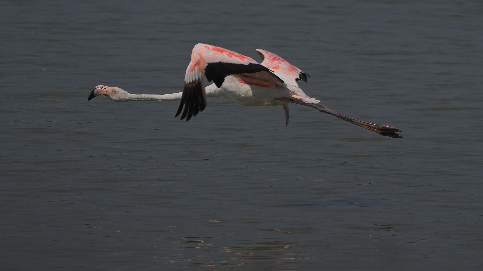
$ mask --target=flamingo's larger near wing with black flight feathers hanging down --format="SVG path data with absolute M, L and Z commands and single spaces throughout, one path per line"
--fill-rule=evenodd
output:
M 269 68 L 258 64 L 248 56 L 221 47 L 198 43 L 191 52 L 191 62 L 186 68 L 183 95 L 175 117 L 185 107 L 181 119 L 186 118 L 186 121 L 189 121 L 192 116 L 196 116 L 199 111 L 203 111 L 206 107 L 203 74 L 208 81 L 213 81 L 217 87 L 221 87 L 225 77 L 232 74 L 254 74 L 258 77 L 269 77 L 271 81 L 276 80 L 283 83 Z

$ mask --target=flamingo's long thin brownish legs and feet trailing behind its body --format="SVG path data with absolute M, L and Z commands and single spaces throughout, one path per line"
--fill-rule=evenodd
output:
M 282 100 L 282 101 L 289 102 L 289 103 L 299 104 L 299 105 L 303 105 L 303 106 L 308 106 L 308 107 L 311 107 L 311 108 L 315 108 L 315 109 L 319 110 L 320 112 L 330 114 L 332 116 L 336 116 L 339 119 L 342 119 L 346 122 L 351 122 L 351 123 L 353 123 L 357 126 L 361 126 L 362 128 L 366 128 L 366 129 L 368 129 L 372 132 L 378 133 L 381 136 L 390 136 L 390 137 L 393 137 L 393 138 L 402 138 L 401 135 L 396 133 L 396 132 L 401 132 L 401 130 L 399 130 L 396 127 L 386 125 L 386 124 L 374 124 L 374 123 L 359 121 L 359 120 L 356 120 L 354 118 L 339 114 L 336 111 L 333 111 L 332 109 L 326 107 L 323 104 L 308 104 L 308 103 L 304 103 L 304 102 L 299 101 L 299 100 L 292 100 L 292 99 L 285 98 L 285 97 L 284 98 L 275 98 L 275 99 Z

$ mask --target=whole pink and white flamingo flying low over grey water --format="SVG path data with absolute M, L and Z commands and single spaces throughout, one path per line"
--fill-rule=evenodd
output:
M 315 108 L 382 136 L 402 138 L 396 133 L 401 130 L 396 127 L 363 122 L 327 108 L 298 87 L 297 81 L 307 82 L 310 77 L 307 73 L 269 51 L 256 49 L 256 53 L 262 58 L 261 63 L 218 46 L 198 43 L 186 68 L 183 92 L 135 95 L 118 87 L 98 85 L 87 100 L 98 95 L 116 102 L 180 100 L 175 117 L 181 114 L 181 120 L 189 121 L 205 109 L 206 97 L 225 98 L 244 106 L 282 106 L 285 125 L 288 125 L 289 119 L 288 104 L 294 103 Z M 213 84 L 205 87 L 203 75 Z

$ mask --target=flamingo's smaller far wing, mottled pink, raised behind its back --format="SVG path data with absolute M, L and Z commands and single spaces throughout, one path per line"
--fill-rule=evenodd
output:
M 270 53 L 269 51 L 263 49 L 256 49 L 256 53 L 262 58 L 262 65 L 270 68 L 278 77 L 282 78 L 284 81 L 290 81 L 289 79 L 298 81 L 302 80 L 307 82 L 307 77 L 310 75 L 303 72 L 301 69 L 290 64 L 282 57 Z

